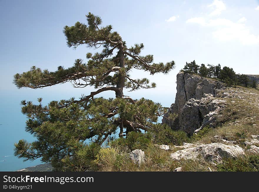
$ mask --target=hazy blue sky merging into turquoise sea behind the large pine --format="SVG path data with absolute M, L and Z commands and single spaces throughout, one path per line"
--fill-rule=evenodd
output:
M 150 76 L 133 70 L 132 77 L 148 77 L 157 88 L 124 93 L 132 98 L 145 97 L 170 106 L 175 100 L 176 74 L 185 62 L 193 60 L 197 64 L 220 63 L 240 74 L 259 74 L 259 1 L 0 0 L 0 140 L 5 148 L 0 157 L 2 153 L 13 154 L 13 143 L 19 139 L 33 140 L 24 132 L 26 117 L 20 113 L 21 100 L 42 97 L 47 104 L 79 98 L 93 90 L 75 89 L 69 83 L 37 90 L 17 89 L 12 84 L 14 74 L 33 65 L 53 71 L 60 65 L 70 67 L 78 58 L 86 61 L 85 54 L 96 50 L 67 47 L 62 30 L 77 21 L 86 23 L 88 12 L 99 15 L 103 25 L 111 24 L 128 46 L 143 43 L 142 54 L 153 54 L 154 62 L 175 61 L 176 68 L 167 75 Z M 114 93 L 100 96 L 114 97 Z M 24 166 L 21 160 L 13 161 Z

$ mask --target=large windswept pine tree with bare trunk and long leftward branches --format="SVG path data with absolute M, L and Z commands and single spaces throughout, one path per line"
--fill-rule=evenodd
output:
M 77 22 L 64 27 L 67 45 L 74 48 L 102 46 L 100 53 L 87 53 L 87 63 L 77 59 L 72 67 L 59 66 L 54 72 L 33 66 L 28 72 L 15 74 L 14 84 L 18 88 L 38 89 L 71 82 L 76 88 L 94 86 L 97 90 L 82 95 L 79 100 L 51 101 L 47 106 L 42 106 L 42 98 L 38 104 L 22 101 L 22 113 L 29 118 L 26 131 L 36 137 L 36 141 L 16 143 L 15 155 L 19 158 L 42 158 L 43 162 L 52 162 L 56 170 L 84 171 L 96 157 L 100 145 L 117 129 L 121 138 L 131 131 L 147 131 L 157 126 L 158 116 L 167 112 L 160 103 L 125 96 L 124 89 L 134 91 L 156 86 L 147 78 L 131 78 L 131 69 L 152 75 L 167 74 L 175 67 L 174 61 L 153 63 L 153 55 L 140 55 L 144 48 L 142 43 L 127 47 L 119 33 L 112 32 L 111 25 L 100 26 L 99 16 L 88 13 L 86 17 L 88 25 Z M 114 91 L 115 98 L 96 97 L 104 91 Z M 92 143 L 87 144 L 88 140 Z

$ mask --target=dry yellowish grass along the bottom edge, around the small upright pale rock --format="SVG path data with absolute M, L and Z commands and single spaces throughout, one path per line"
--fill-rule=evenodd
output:
M 202 158 L 196 160 L 180 161 L 170 159 L 170 154 L 179 150 L 163 150 L 155 145 L 150 145 L 145 151 L 145 162 L 134 164 L 129 158 L 128 150 L 120 146 L 104 148 L 98 157 L 99 171 L 173 171 L 182 167 L 183 171 L 209 171 L 208 167 L 215 171 L 215 165 L 206 162 Z

